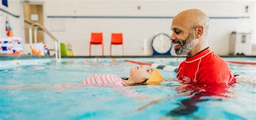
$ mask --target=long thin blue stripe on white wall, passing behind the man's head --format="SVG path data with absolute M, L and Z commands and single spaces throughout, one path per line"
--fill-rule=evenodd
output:
M 47 16 L 48 18 L 127 18 L 127 19 L 172 19 L 170 17 L 157 17 L 157 16 Z M 210 19 L 238 19 L 238 18 L 250 18 L 250 17 L 209 17 Z

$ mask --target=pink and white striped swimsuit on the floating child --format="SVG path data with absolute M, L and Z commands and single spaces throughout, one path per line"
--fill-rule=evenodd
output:
M 86 86 L 125 86 L 124 80 L 113 74 L 96 74 L 81 82 Z

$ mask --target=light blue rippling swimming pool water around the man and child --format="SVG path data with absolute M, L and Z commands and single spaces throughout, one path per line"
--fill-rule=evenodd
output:
M 111 73 L 129 77 L 129 69 L 137 66 L 124 62 L 131 59 L 178 66 L 184 58 L 111 58 L 5 60 L 0 61 L 0 85 L 77 83 L 94 74 Z M 225 58 L 255 61 L 256 58 Z M 253 65 L 230 63 L 234 74 L 256 76 Z M 164 79 L 176 73 L 160 70 Z M 161 86 L 132 86 L 134 92 L 150 96 L 136 99 L 125 97 L 110 87 L 83 87 L 68 90 L 0 89 L 0 119 L 256 119 L 256 89 L 235 83 L 225 97 L 193 95 L 177 96 L 176 81 Z M 189 91 L 189 90 L 188 90 Z M 185 93 L 185 92 L 184 92 Z M 168 98 L 138 110 L 159 98 Z M 186 112 L 179 114 L 178 112 Z

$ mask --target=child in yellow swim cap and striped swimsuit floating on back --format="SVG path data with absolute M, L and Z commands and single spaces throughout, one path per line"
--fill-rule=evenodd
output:
M 154 84 L 163 81 L 163 76 L 157 69 L 145 68 L 144 66 L 137 66 L 130 69 L 130 77 L 122 78 L 114 74 L 96 74 L 87 77 L 79 83 L 68 83 L 68 84 L 37 84 L 37 85 L 11 85 L 11 86 L 0 86 L 2 89 L 25 89 L 25 88 L 72 88 L 78 86 L 104 86 L 104 87 L 123 87 L 123 86 L 134 86 L 142 84 Z

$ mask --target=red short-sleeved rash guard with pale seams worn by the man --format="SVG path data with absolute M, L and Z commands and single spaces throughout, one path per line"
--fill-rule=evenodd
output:
M 182 83 L 188 84 L 226 84 L 235 83 L 228 64 L 210 48 L 197 53 L 193 57 L 181 62 L 177 72 L 177 78 Z

